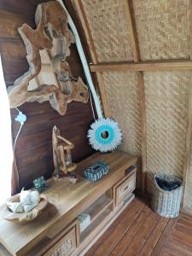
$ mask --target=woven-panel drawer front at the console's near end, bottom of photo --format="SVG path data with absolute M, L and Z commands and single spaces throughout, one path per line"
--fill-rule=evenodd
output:
M 44 256 L 68 256 L 77 248 L 76 229 L 73 227 L 68 233 L 55 243 Z

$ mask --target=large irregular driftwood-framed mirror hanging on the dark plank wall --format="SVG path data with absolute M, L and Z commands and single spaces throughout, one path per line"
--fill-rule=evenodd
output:
M 56 1 L 39 4 L 35 21 L 35 30 L 26 24 L 18 29 L 26 45 L 29 70 L 9 87 L 10 108 L 49 101 L 63 115 L 67 103 L 85 103 L 89 96 L 87 86 L 81 78 L 73 78 L 66 61 L 73 34 L 67 27 L 65 10 Z

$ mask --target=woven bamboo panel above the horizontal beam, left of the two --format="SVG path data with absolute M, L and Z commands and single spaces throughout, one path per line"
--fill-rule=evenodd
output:
M 132 61 L 124 2 L 82 0 L 98 61 Z

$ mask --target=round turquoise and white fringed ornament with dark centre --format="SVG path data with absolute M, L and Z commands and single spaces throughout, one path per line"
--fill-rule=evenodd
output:
M 122 132 L 113 119 L 97 119 L 90 125 L 87 137 L 92 148 L 101 152 L 111 151 L 122 141 Z

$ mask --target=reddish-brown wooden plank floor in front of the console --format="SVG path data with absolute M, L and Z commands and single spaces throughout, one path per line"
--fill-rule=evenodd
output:
M 192 216 L 162 218 L 135 199 L 85 255 L 192 255 Z

